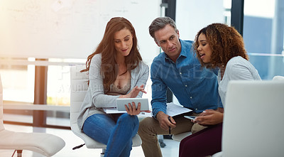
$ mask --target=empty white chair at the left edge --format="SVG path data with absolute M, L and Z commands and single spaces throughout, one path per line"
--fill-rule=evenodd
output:
M 43 156 L 53 156 L 64 146 L 60 137 L 45 133 L 8 131 L 3 123 L 3 89 L 0 76 L 0 149 L 12 149 L 21 157 L 23 150 L 35 151 Z

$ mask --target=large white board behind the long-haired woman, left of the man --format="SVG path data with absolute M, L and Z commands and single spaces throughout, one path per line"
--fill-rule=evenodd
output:
M 143 60 L 158 46 L 148 26 L 161 0 L 0 0 L 0 56 L 82 58 L 94 52 L 110 18 L 127 18 L 136 29 Z

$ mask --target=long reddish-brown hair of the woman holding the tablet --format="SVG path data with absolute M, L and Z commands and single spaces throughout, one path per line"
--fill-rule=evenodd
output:
M 132 24 L 123 17 L 114 17 L 107 23 L 106 30 L 104 31 L 104 37 L 101 43 L 97 46 L 97 49 L 88 56 L 86 62 L 86 69 L 81 72 L 89 71 L 89 65 L 94 55 L 102 53 L 102 65 L 101 73 L 104 77 L 104 89 L 109 90 L 109 86 L 114 83 L 118 75 L 117 64 L 115 60 L 116 49 L 114 48 L 114 33 L 121 31 L 122 29 L 128 29 L 133 36 L 133 45 L 129 55 L 125 58 L 125 63 L 127 65 L 127 70 L 135 69 L 140 61 L 142 60 L 141 55 L 138 51 L 137 38 L 135 30 Z

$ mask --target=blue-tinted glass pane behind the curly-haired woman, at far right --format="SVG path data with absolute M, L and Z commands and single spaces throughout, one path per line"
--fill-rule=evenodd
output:
M 262 80 L 284 75 L 284 2 L 244 1 L 244 43 Z

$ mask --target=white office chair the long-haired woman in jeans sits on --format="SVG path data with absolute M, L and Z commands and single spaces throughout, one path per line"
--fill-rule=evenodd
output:
M 70 125 L 72 132 L 79 136 L 85 144 L 80 146 L 76 146 L 75 148 L 80 148 L 81 146 L 86 145 L 87 148 L 102 148 L 101 156 L 104 156 L 104 151 L 106 150 L 107 146 L 105 144 L 99 143 L 94 139 L 90 138 L 84 132 L 80 131 L 77 125 L 77 117 L 80 113 L 80 108 L 82 102 L 84 100 L 84 96 L 87 92 L 88 85 L 88 74 L 87 72 L 80 72 L 85 68 L 84 65 L 77 65 L 70 67 Z M 140 136 L 136 134 L 136 136 L 132 139 L 132 146 L 141 146 L 142 141 Z M 75 149 L 73 148 L 73 149 Z

